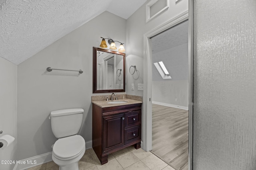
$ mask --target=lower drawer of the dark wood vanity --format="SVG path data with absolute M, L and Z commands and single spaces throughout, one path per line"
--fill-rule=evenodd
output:
M 141 139 L 140 125 L 124 129 L 124 145 Z

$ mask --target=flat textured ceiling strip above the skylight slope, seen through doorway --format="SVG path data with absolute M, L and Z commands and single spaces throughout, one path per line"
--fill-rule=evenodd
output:
M 152 37 L 152 53 L 155 54 L 184 43 L 188 43 L 188 21 Z

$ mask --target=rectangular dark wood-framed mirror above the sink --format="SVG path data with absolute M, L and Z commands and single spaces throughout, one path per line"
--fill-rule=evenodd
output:
M 125 53 L 93 47 L 92 55 L 92 92 L 125 92 Z

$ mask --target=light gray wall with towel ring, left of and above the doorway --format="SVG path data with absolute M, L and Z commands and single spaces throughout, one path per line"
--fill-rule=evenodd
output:
M 170 1 L 170 7 L 160 15 L 146 23 L 146 4 L 142 5 L 130 18 L 127 25 L 127 43 L 126 43 L 126 93 L 131 95 L 143 96 L 143 91 L 138 91 L 138 83 L 144 83 L 144 42 L 143 35 L 157 26 L 169 21 L 178 14 L 188 10 L 188 1 L 180 0 L 177 3 Z M 137 72 L 131 75 L 129 68 L 136 65 Z M 134 90 L 131 90 L 131 84 L 134 84 Z

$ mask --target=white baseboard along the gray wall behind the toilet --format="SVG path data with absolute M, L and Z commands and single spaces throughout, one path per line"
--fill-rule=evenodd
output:
M 85 147 L 86 149 L 92 148 L 92 141 L 86 142 Z M 31 158 L 18 161 L 20 163 L 15 164 L 13 170 L 26 170 L 28 168 L 32 168 L 34 166 L 45 164 L 51 161 L 52 161 L 52 152 L 48 152 L 45 154 L 40 154 L 38 156 L 33 156 Z

